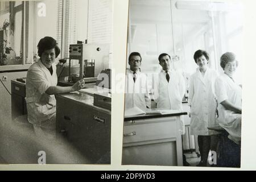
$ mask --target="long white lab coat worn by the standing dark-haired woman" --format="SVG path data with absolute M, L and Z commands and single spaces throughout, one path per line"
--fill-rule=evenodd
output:
M 216 118 L 217 101 L 214 94 L 214 82 L 217 73 L 207 68 L 204 77 L 199 68 L 191 75 L 188 90 L 188 105 L 191 106 L 191 134 L 214 135 L 217 131 L 208 127 L 218 126 Z

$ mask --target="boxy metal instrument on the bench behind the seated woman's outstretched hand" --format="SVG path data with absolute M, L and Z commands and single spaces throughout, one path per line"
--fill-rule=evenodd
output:
M 79 64 L 79 75 L 72 73 L 72 66 Z M 69 46 L 69 76 L 70 82 L 84 78 L 85 82 L 96 82 L 97 76 L 109 68 L 108 44 L 71 44 Z

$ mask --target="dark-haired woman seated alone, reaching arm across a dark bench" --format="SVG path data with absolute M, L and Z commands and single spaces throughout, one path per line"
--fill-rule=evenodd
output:
M 73 86 L 57 86 L 55 59 L 59 53 L 56 40 L 46 36 L 38 43 L 40 60 L 32 64 L 27 72 L 27 117 L 39 137 L 55 138 L 54 94 L 73 92 L 84 86 L 84 80 L 76 82 Z

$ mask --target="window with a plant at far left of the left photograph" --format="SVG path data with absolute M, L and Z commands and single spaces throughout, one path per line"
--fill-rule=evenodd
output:
M 24 64 L 25 3 L 0 2 L 0 65 Z

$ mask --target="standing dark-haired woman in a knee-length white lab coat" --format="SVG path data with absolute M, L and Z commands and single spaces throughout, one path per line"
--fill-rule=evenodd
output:
M 198 135 L 201 161 L 197 166 L 207 166 L 209 150 L 216 151 L 218 133 L 208 130 L 217 126 L 217 101 L 214 95 L 214 82 L 217 73 L 208 68 L 209 55 L 197 50 L 193 56 L 199 68 L 190 78 L 188 105 L 191 106 L 191 134 Z

